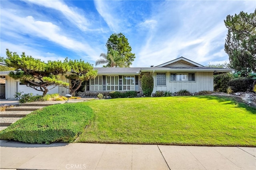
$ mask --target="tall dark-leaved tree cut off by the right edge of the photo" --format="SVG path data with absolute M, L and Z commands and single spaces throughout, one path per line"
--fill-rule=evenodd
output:
M 256 72 L 256 10 L 251 14 L 228 15 L 224 23 L 228 28 L 225 52 L 231 68 L 245 77 Z

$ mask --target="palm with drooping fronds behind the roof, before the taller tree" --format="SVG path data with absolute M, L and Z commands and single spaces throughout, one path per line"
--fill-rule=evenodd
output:
M 103 59 L 98 59 L 95 62 L 96 66 L 106 64 L 103 67 L 124 67 L 124 58 L 116 50 L 110 49 L 107 54 L 101 53 L 100 57 Z

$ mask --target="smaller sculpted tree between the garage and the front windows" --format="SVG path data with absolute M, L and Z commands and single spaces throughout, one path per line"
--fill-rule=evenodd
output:
M 71 67 L 72 74 L 66 75 L 66 78 L 70 79 L 69 89 L 73 96 L 82 85 L 82 82 L 97 76 L 98 70 L 93 70 L 93 66 L 90 63 L 85 63 L 81 59 L 80 61 L 68 61 L 68 59 L 66 59 L 64 63 L 68 63 Z

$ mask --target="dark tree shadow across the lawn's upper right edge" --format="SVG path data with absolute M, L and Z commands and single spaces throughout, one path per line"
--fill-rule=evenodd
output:
M 207 99 L 207 100 L 217 100 L 218 102 L 222 103 L 222 104 L 234 104 L 236 105 L 235 107 L 241 107 L 246 109 L 247 111 L 249 111 L 252 114 L 256 115 L 256 108 L 255 107 L 251 107 L 248 106 L 247 104 L 244 104 L 242 100 L 230 96 L 196 96 L 196 98 L 202 98 L 202 99 Z

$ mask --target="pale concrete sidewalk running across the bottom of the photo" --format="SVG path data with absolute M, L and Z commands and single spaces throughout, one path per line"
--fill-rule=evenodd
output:
M 255 170 L 256 148 L 0 141 L 0 168 Z

